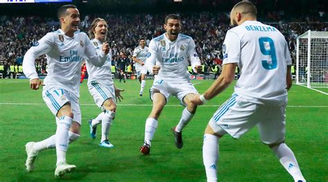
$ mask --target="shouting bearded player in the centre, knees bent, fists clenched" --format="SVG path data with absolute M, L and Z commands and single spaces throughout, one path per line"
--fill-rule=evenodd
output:
M 190 74 L 187 70 L 189 61 L 195 72 L 201 72 L 201 63 L 195 50 L 194 40 L 181 34 L 181 20 L 176 14 L 165 17 L 166 32 L 149 43 L 149 54 L 146 61 L 147 70 L 155 75 L 154 84 L 150 88 L 150 98 L 153 101 L 152 112 L 145 124 L 145 141 L 140 152 L 147 155 L 152 145 L 160 116 L 164 105 L 170 96 L 180 100 L 185 106 L 181 119 L 172 128 L 177 148 L 183 147 L 182 129 L 188 124 L 196 112 L 197 105 L 190 102 L 198 95 L 197 90 L 190 83 Z

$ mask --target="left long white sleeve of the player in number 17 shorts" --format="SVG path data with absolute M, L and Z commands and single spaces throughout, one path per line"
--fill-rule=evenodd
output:
M 35 59 L 42 54 L 47 54 L 53 49 L 53 34 L 48 33 L 42 39 L 37 41 L 24 55 L 23 72 L 28 79 L 37 79 L 37 70 L 35 69 Z

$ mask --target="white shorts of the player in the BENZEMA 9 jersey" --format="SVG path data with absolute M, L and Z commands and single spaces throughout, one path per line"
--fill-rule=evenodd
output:
M 284 141 L 286 133 L 286 105 L 262 105 L 251 103 L 233 94 L 213 114 L 210 127 L 215 132 L 224 129 L 235 139 L 257 125 L 261 141 L 265 144 Z

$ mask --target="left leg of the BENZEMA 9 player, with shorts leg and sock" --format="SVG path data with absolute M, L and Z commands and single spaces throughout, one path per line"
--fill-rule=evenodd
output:
M 208 181 L 217 181 L 219 138 L 228 133 L 235 139 L 248 132 L 256 124 L 256 105 L 233 94 L 213 114 L 203 138 L 203 164 Z

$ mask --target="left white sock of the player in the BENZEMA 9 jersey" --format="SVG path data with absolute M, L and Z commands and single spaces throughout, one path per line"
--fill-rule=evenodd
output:
M 203 163 L 208 181 L 217 181 L 217 160 L 219 159 L 219 137 L 204 134 Z

